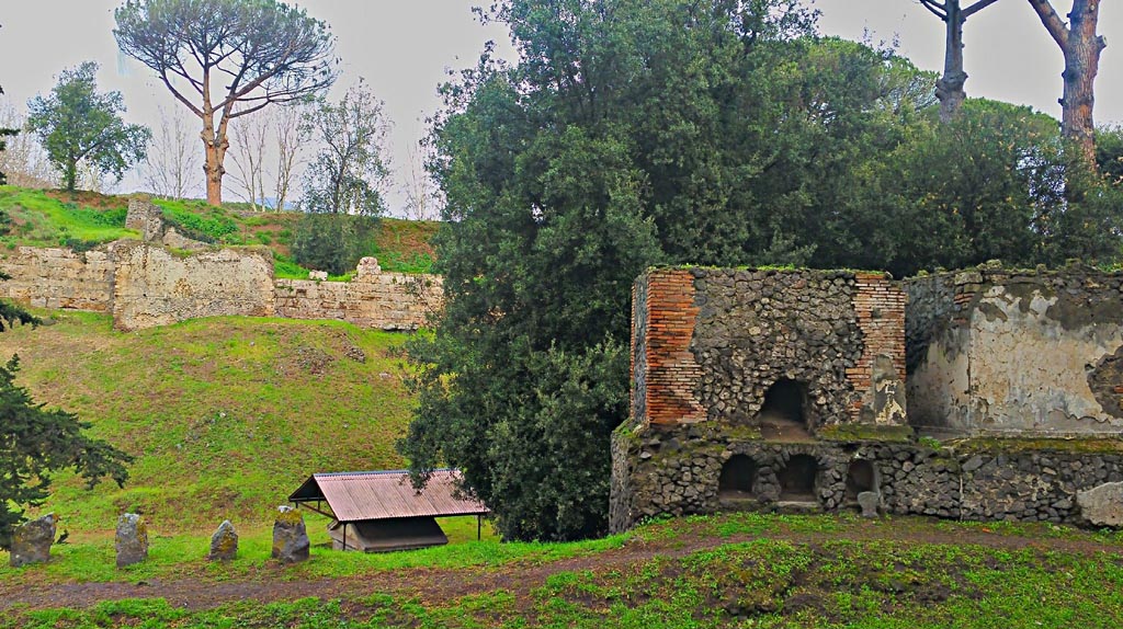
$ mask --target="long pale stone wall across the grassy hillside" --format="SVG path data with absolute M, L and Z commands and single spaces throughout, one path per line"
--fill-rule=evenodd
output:
M 111 313 L 131 331 L 204 316 L 336 318 L 363 327 L 416 330 L 441 303 L 441 278 L 384 272 L 364 258 L 351 281 L 280 279 L 265 247 L 216 247 L 166 226 L 159 207 L 129 201 L 128 229 L 92 251 L 17 247 L 0 252 L 0 298 L 45 308 Z M 327 276 L 321 276 L 326 279 Z

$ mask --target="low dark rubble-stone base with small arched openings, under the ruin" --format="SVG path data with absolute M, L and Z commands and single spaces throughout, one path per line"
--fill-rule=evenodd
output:
M 865 461 L 873 470 L 869 489 L 880 493 L 888 514 L 1085 525 L 1077 493 L 1123 481 L 1123 453 L 1081 452 L 1072 445 L 1026 448 L 995 441 L 933 450 L 886 441 L 774 443 L 701 425 L 618 429 L 610 527 L 621 531 L 661 515 L 777 508 L 779 474 L 798 455 L 815 461 L 813 503 L 828 511 L 857 508 L 857 489 L 847 485 L 851 465 Z M 736 455 L 756 468 L 751 494 L 723 498 L 722 469 Z

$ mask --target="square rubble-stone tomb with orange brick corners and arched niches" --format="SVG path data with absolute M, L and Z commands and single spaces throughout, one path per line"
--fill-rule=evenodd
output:
M 659 514 L 838 509 L 904 442 L 905 294 L 885 274 L 656 269 L 633 289 L 613 530 Z M 887 454 L 894 460 L 894 454 Z

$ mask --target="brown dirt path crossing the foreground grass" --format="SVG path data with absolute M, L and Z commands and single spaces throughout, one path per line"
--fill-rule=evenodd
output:
M 992 548 L 1035 548 L 1071 554 L 1120 554 L 1115 545 L 1101 544 L 1086 538 L 1041 539 L 999 535 L 979 530 L 939 531 L 921 534 L 907 528 L 876 526 L 860 522 L 848 526 L 842 533 L 779 531 L 763 536 L 696 536 L 684 534 L 667 540 L 630 540 L 620 548 L 593 555 L 572 557 L 536 564 L 514 561 L 500 566 L 473 568 L 411 568 L 396 572 L 372 572 L 359 576 L 322 579 L 318 581 L 283 581 L 270 579 L 270 572 L 280 573 L 281 566 L 247 580 L 213 581 L 207 579 L 177 579 L 137 583 L 64 583 L 31 586 L 0 584 L 0 611 L 12 605 L 29 609 L 89 608 L 106 600 L 165 599 L 170 604 L 190 610 L 211 609 L 222 603 L 255 600 L 261 602 L 294 600 L 316 596 L 325 600 L 354 599 L 371 594 L 417 596 L 422 601 L 455 600 L 468 594 L 505 590 L 517 598 L 529 596 L 545 584 L 547 577 L 560 572 L 581 570 L 613 570 L 639 564 L 656 556 L 682 557 L 724 544 L 769 538 L 793 544 L 821 545 L 832 540 L 855 542 L 911 542 L 921 544 L 979 545 Z

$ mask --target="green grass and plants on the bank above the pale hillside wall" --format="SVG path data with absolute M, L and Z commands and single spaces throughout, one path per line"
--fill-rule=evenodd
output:
M 249 212 L 241 204 L 222 207 L 201 201 L 155 198 L 164 219 L 181 233 L 220 244 L 265 244 L 274 252 L 277 277 L 307 278 L 308 269 L 291 256 L 299 212 Z M 65 193 L 0 186 L 0 211 L 7 225 L 0 246 L 72 247 L 85 250 L 120 238 L 137 238 L 125 229 L 128 197 L 91 192 Z M 429 272 L 433 250 L 429 241 L 439 223 L 384 218 L 363 255 L 374 256 L 385 270 Z

